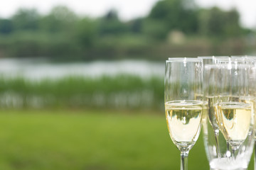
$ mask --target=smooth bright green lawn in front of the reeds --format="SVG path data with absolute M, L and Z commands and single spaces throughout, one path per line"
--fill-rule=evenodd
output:
M 179 168 L 179 151 L 168 135 L 164 113 L 1 111 L 0 114 L 0 169 Z M 209 169 L 202 135 L 190 152 L 188 169 Z

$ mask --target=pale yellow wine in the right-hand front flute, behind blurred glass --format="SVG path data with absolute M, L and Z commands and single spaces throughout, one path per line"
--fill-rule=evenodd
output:
M 249 132 L 252 107 L 250 103 L 223 102 L 219 104 L 223 135 L 230 145 L 240 145 Z

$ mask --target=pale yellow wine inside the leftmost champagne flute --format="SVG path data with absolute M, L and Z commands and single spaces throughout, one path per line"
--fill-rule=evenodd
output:
M 194 145 L 201 130 L 202 101 L 165 103 L 166 121 L 171 140 L 179 147 Z

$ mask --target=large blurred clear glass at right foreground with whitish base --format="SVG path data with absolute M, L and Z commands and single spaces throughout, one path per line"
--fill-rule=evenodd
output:
M 204 69 L 204 96 L 213 95 L 206 100 L 208 118 L 203 120 L 210 169 L 247 169 L 254 143 L 252 67 L 232 57 L 215 63 Z

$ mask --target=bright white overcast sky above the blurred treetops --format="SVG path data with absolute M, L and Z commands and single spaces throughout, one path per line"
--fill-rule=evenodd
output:
M 129 20 L 146 16 L 158 0 L 7 0 L 0 5 L 0 17 L 8 18 L 18 8 L 36 8 L 46 14 L 53 6 L 65 5 L 79 15 L 90 17 L 102 16 L 111 8 L 117 9 L 119 17 Z M 237 8 L 240 13 L 240 23 L 247 28 L 256 28 L 256 0 L 195 0 L 198 6 L 210 8 L 219 6 L 225 10 Z

